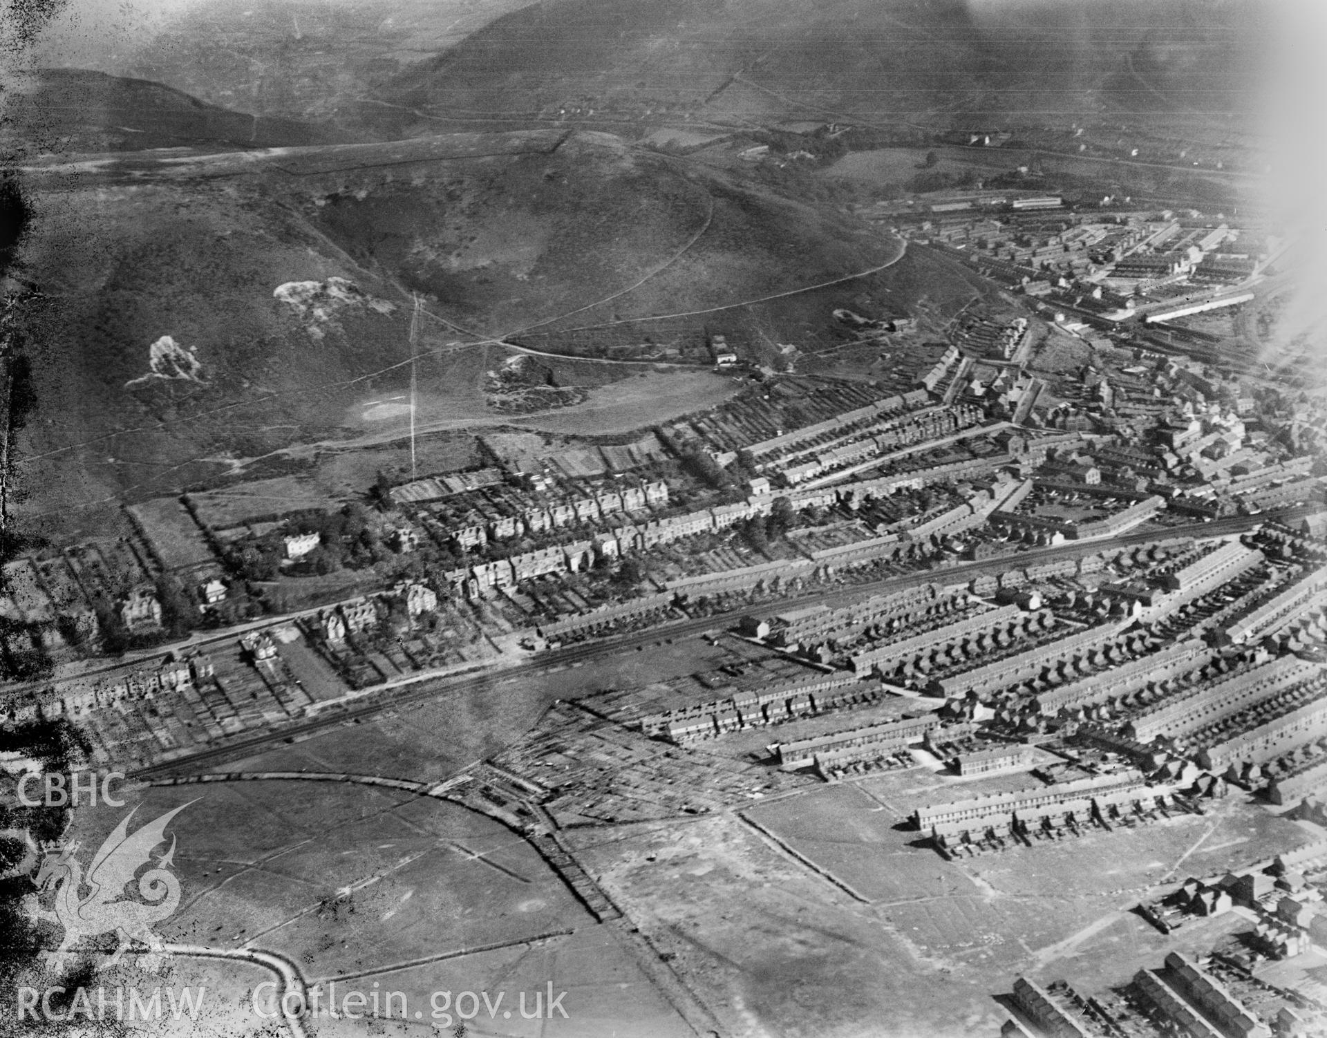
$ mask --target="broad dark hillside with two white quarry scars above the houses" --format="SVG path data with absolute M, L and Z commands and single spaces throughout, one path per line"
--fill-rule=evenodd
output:
M 464 345 L 476 336 L 725 307 L 898 254 L 832 208 L 605 134 L 449 141 L 411 147 L 471 157 L 409 162 L 399 145 L 248 153 L 215 175 L 215 157 L 145 154 L 131 177 L 110 163 L 77 181 L 35 178 L 19 269 L 44 293 L 24 308 L 42 345 L 19 445 L 21 518 L 54 532 L 98 502 L 381 431 L 378 417 L 402 410 L 410 291 L 441 319 L 427 323 L 419 380 L 421 418 L 443 427 L 502 421 L 484 370 L 503 352 Z M 764 334 L 775 349 L 775 336 L 824 332 L 845 300 L 906 305 L 943 295 L 947 276 L 920 276 L 905 258 L 872 279 L 681 327 Z M 970 289 L 954 284 L 957 308 Z

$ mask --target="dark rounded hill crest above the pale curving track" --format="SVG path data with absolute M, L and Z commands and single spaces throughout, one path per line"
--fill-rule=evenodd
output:
M 362 170 L 326 195 L 330 181 L 305 178 L 291 196 L 358 261 L 484 334 L 703 309 L 865 269 L 894 248 L 833 210 L 609 134 L 464 169 L 421 165 L 409 182 Z

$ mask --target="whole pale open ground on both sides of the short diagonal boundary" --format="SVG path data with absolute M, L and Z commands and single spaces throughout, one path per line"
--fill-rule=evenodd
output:
M 1223 916 L 1162 937 L 1132 908 L 1189 875 L 1221 875 L 1312 839 L 1234 794 L 1145 828 L 946 861 L 901 823 L 912 804 L 1024 784 L 955 782 L 924 769 L 820 786 L 743 814 L 865 901 L 739 818 L 666 823 L 583 856 L 734 1034 L 994 1033 L 1015 977 L 1092 993 L 1170 949 L 1247 929 Z M 946 788 L 947 787 L 947 788 Z M 624 839 L 625 836 L 625 839 Z M 604 839 L 600 846 L 597 840 Z

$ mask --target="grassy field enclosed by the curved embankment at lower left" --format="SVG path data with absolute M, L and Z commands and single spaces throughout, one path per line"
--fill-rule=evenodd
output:
M 628 1019 L 637 1030 L 617 1034 L 686 1034 L 616 932 L 596 924 L 522 838 L 487 818 L 390 790 L 300 782 L 150 788 L 138 818 L 183 803 L 170 832 L 184 897 L 158 927 L 167 941 L 276 952 L 311 984 L 369 992 L 380 982 L 426 1017 L 438 990 L 506 990 L 512 1010 L 520 990 L 532 996 L 552 981 L 568 992 L 560 1026 L 540 1031 L 512 1011 L 514 1021 L 486 1021 L 486 1034 L 606 1038 Z M 96 847 L 121 815 L 85 808 L 74 835 Z M 227 972 L 222 1018 L 247 1033 L 255 1021 L 236 997 L 245 990 Z M 186 964 L 176 985 L 190 973 Z M 214 986 L 211 969 L 204 976 Z M 251 970 L 235 981 L 260 978 Z M 362 1034 L 324 1031 L 324 1022 L 320 1034 Z M 389 1026 L 387 1034 L 419 1027 Z

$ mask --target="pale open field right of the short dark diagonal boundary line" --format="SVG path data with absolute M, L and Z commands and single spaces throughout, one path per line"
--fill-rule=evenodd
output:
M 886 917 L 910 934 L 921 954 L 1006 970 L 1019 961 L 1050 966 L 1091 937 L 1096 930 L 1084 930 L 1093 927 L 1151 937 L 1141 919 L 1119 915 L 1143 892 L 1189 875 L 1221 875 L 1310 839 L 1298 826 L 1231 798 L 1206 818 L 1178 815 L 1131 832 L 1093 832 L 1055 846 L 945 861 L 916 847 L 920 834 L 898 828 L 900 807 L 958 795 L 928 795 L 936 780 L 916 771 L 882 775 L 856 790 L 812 794 L 813 812 L 788 802 L 755 815 L 877 909 L 888 909 Z M 999 784 L 1014 782 L 1006 777 Z M 965 786 L 962 795 L 982 787 L 987 783 Z M 1036 911 L 1030 912 L 1034 903 Z M 1093 957 L 1092 968 L 1101 981 L 1113 982 L 1111 969 L 1136 969 L 1147 957 L 1143 946 L 1151 944 L 1123 960 Z

